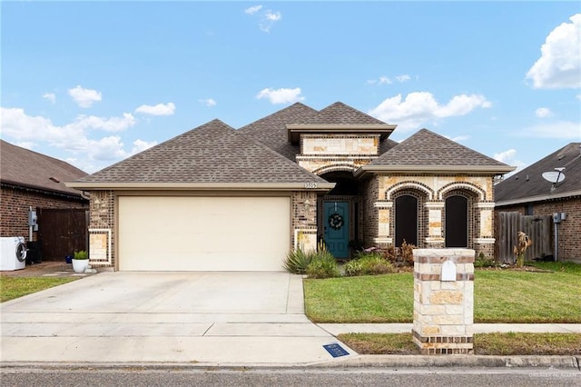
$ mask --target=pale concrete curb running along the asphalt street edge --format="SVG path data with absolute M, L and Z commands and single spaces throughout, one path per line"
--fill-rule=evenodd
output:
M 359 355 L 330 362 L 297 364 L 215 363 L 215 362 L 2 362 L 0 371 L 24 369 L 97 371 L 97 370 L 289 370 L 331 368 L 552 368 L 581 372 L 581 357 L 576 356 L 485 356 L 485 355 Z

